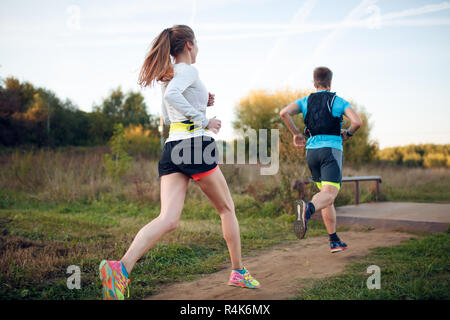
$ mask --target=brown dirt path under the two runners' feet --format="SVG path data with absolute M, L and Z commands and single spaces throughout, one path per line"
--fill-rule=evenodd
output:
M 302 279 L 325 278 L 344 270 L 356 258 L 366 255 L 370 248 L 392 246 L 414 237 L 389 231 L 340 232 L 349 249 L 332 254 L 326 237 L 312 237 L 273 247 L 257 256 L 244 259 L 252 275 L 261 282 L 257 290 L 226 285 L 229 267 L 200 279 L 167 285 L 150 300 L 272 300 L 297 294 Z M 283 270 L 277 273 L 278 270 Z

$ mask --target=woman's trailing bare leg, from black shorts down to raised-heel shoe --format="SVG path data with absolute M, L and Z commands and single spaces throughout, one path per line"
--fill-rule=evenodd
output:
M 184 206 L 189 178 L 182 173 L 171 173 L 161 177 L 161 212 L 145 225 L 134 238 L 121 261 L 128 274 L 151 247 L 166 233 L 177 228 Z

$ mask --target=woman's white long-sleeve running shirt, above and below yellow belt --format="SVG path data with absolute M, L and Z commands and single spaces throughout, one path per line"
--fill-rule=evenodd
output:
M 205 130 L 209 119 L 206 118 L 208 91 L 201 82 L 197 69 L 184 62 L 174 64 L 174 76 L 168 83 L 161 85 L 162 115 L 165 124 L 191 120 L 201 129 L 193 132 L 169 132 L 168 141 L 189 139 L 211 133 Z

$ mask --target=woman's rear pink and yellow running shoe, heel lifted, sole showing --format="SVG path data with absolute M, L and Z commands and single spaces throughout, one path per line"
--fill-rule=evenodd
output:
M 99 275 L 102 280 L 103 300 L 124 300 L 125 289 L 128 289 L 128 298 L 130 297 L 130 280 L 122 261 L 103 260 L 100 262 Z

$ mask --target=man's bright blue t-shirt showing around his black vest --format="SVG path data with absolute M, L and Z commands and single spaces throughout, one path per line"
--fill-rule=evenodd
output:
M 324 91 L 324 90 L 322 90 Z M 317 91 L 321 92 L 321 91 Z M 300 109 L 300 113 L 303 114 L 303 119 L 306 117 L 306 113 L 308 112 L 308 98 L 304 97 L 302 99 L 297 100 L 297 104 Z M 349 102 L 345 101 L 341 97 L 338 97 L 336 95 L 336 98 L 333 102 L 333 108 L 332 108 L 332 114 L 334 117 L 340 117 L 344 114 L 345 109 L 351 108 Z M 342 128 L 342 124 L 341 124 Z M 328 134 L 318 134 L 308 139 L 306 142 L 305 149 L 319 149 L 319 148 L 335 148 L 341 151 L 344 151 L 342 148 L 342 137 L 341 136 L 334 136 L 334 135 L 328 135 Z

